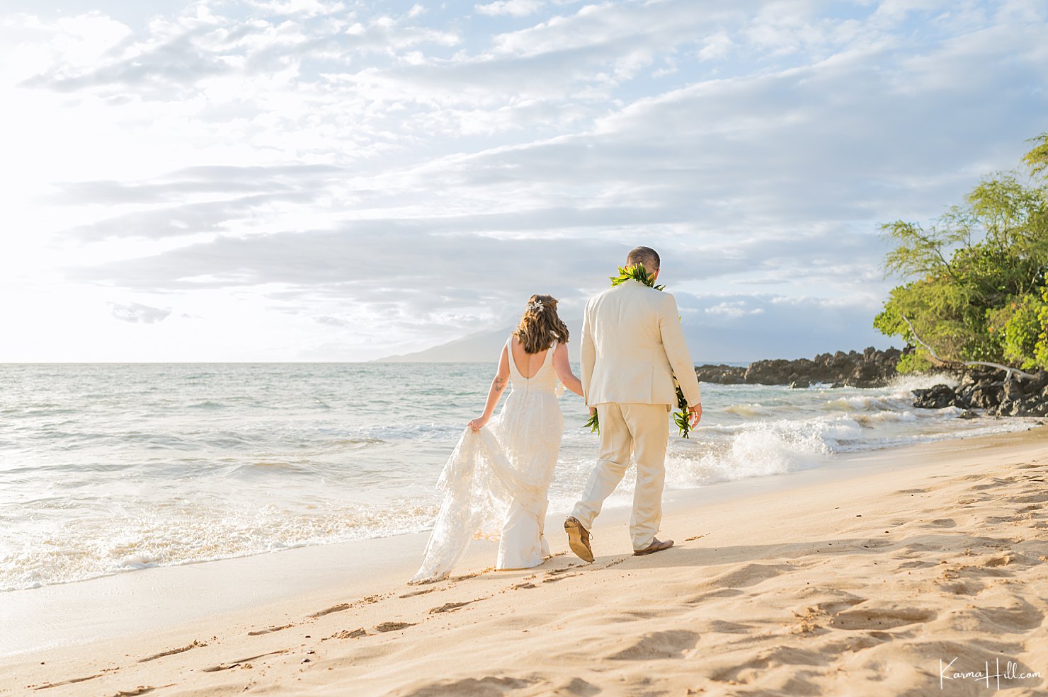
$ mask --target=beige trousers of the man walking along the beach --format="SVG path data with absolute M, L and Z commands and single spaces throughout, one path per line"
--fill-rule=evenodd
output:
M 596 413 L 601 421 L 601 455 L 571 515 L 586 530 L 593 527 L 604 499 L 623 480 L 632 452 L 637 463 L 637 484 L 633 490 L 630 537 L 634 549 L 643 549 L 655 539 L 662 522 L 665 446 L 670 439 L 668 407 L 608 402 L 597 404 Z

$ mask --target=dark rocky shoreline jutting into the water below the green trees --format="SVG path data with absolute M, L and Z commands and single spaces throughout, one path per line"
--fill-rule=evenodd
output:
M 898 373 L 899 357 L 912 351 L 873 346 L 863 353 L 838 351 L 820 354 L 813 359 L 761 360 L 747 366 L 697 365 L 700 382 L 721 385 L 789 385 L 793 388 L 823 384 L 828 387 L 883 387 Z M 988 367 L 965 368 L 961 372 L 942 369 L 943 375 L 958 381 L 957 387 L 938 384 L 927 389 L 915 389 L 914 406 L 920 409 L 963 409 L 962 418 L 1048 417 L 1048 370 L 1040 370 L 1032 379 L 1005 375 Z

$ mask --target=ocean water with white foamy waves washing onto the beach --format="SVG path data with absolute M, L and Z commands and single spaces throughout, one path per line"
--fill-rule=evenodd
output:
M 480 415 L 494 364 L 0 365 L 0 591 L 148 566 L 428 530 L 437 476 Z M 833 467 L 842 452 L 1029 427 L 914 409 L 910 390 L 703 384 L 671 434 L 668 489 Z M 550 513 L 581 491 L 597 436 L 582 399 Z M 628 505 L 631 475 L 608 505 Z

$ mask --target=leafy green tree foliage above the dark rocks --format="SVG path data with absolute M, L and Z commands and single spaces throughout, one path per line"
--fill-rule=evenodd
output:
M 886 273 L 905 283 L 892 289 L 874 328 L 912 344 L 916 331 L 952 360 L 1048 367 L 1048 133 L 1031 141 L 1025 172 L 984 177 L 926 229 L 881 225 L 895 245 Z M 898 367 L 920 372 L 932 362 L 920 347 Z

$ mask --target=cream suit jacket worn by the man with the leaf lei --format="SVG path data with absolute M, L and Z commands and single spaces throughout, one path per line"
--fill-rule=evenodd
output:
M 638 280 L 590 298 L 583 319 L 582 381 L 586 404 L 677 404 L 673 375 L 689 406 L 699 404 L 695 364 L 673 295 Z

